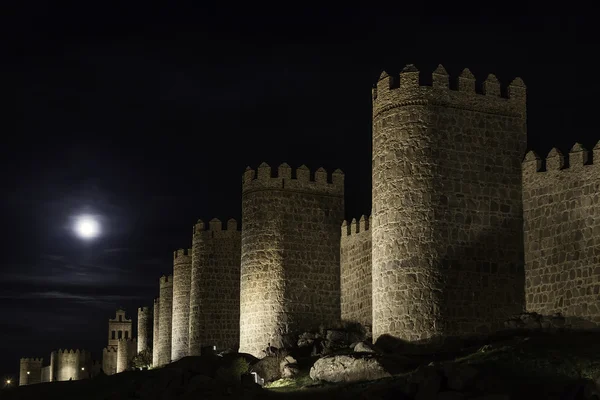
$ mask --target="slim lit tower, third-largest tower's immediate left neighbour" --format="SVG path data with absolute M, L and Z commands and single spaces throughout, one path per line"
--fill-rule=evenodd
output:
M 191 273 L 192 249 L 179 249 L 173 252 L 172 361 L 188 355 Z

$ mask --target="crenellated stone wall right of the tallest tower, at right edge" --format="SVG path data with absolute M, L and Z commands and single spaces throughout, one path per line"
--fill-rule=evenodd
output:
M 600 142 L 523 162 L 527 310 L 600 324 Z

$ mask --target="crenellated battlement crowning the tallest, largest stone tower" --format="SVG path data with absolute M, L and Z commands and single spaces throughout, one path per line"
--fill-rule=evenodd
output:
M 482 83 L 482 92 L 476 92 L 476 77 L 468 68 L 456 78 L 457 89 L 450 88 L 450 76 L 442 65 L 431 73 L 432 85 L 420 81 L 420 71 L 408 64 L 397 75 L 383 72 L 373 87 L 373 116 L 407 105 L 439 105 L 486 113 L 525 116 L 527 88 L 521 78 L 508 85 L 502 96 L 501 84 L 489 74 Z

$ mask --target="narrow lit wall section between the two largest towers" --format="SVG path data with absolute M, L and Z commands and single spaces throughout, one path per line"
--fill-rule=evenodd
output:
M 340 245 L 342 321 L 372 325 L 371 231 L 369 217 L 342 224 Z

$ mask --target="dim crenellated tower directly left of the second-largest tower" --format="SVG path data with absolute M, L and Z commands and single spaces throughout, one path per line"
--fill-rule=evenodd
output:
M 198 221 L 192 240 L 190 355 L 204 346 L 239 347 L 241 232 L 235 219 L 227 230 L 216 218 L 206 228 Z

